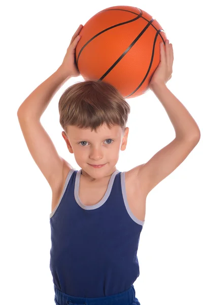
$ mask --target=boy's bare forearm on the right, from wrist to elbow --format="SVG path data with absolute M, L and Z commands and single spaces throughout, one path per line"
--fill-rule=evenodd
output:
M 176 138 L 193 139 L 200 137 L 200 131 L 195 120 L 165 84 L 154 84 L 151 90 L 165 108 L 175 129 Z

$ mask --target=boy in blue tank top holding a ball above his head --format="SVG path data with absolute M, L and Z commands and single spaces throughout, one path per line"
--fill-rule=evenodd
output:
M 119 172 L 116 163 L 127 144 L 129 105 L 110 84 L 87 81 L 67 88 L 59 101 L 62 136 L 81 170 L 59 157 L 40 117 L 59 87 L 80 75 L 75 48 L 81 29 L 80 25 L 59 69 L 18 110 L 30 154 L 52 190 L 50 269 L 55 303 L 140 305 L 132 283 L 140 274 L 137 251 L 146 197 L 185 160 L 200 131 L 166 87 L 174 59 L 166 40 L 165 48 L 160 45 L 160 64 L 150 89 L 170 117 L 176 138 L 147 163 Z

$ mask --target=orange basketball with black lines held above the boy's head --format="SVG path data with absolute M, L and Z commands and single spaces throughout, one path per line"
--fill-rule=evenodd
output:
M 124 98 L 149 89 L 160 62 L 160 42 L 166 35 L 145 11 L 115 6 L 98 12 L 80 32 L 76 63 L 85 80 L 101 80 L 116 87 Z

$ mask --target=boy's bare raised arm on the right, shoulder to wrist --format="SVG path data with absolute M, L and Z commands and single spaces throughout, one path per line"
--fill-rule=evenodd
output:
M 140 167 L 138 178 L 146 196 L 187 158 L 200 139 L 195 120 L 166 85 L 157 83 L 151 89 L 165 108 L 176 137 Z

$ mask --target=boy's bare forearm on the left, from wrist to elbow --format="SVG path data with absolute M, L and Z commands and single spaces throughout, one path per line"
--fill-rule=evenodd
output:
M 59 67 L 24 100 L 18 109 L 18 115 L 40 119 L 53 96 L 70 77 L 64 75 Z

